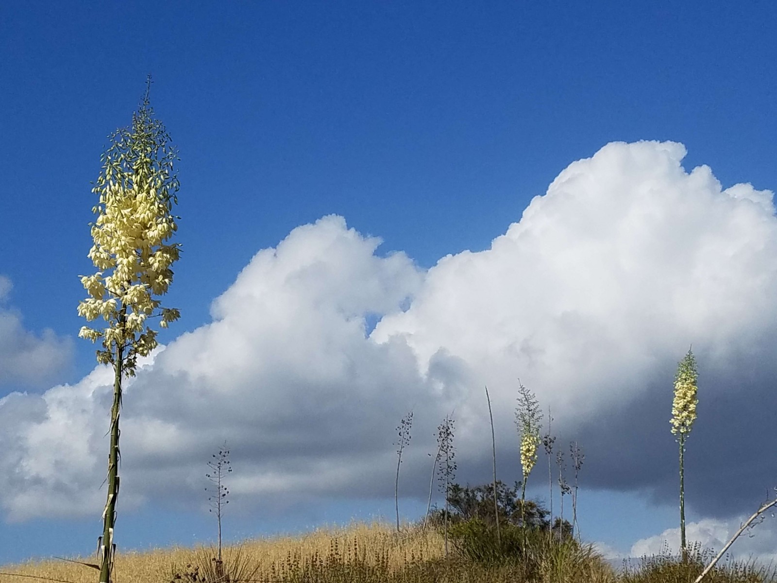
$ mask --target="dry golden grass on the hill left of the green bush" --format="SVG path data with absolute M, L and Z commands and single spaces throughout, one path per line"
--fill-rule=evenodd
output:
M 380 557 L 388 559 L 389 567 L 398 570 L 411 560 L 437 559 L 443 556 L 444 542 L 434 529 L 422 532 L 416 528 L 406 528 L 398 534 L 388 524 L 374 522 L 370 525 L 354 523 L 347 527 L 317 529 L 301 536 L 277 536 L 267 539 L 248 540 L 239 546 L 225 547 L 225 564 L 228 564 L 235 550 L 242 547 L 242 553 L 253 564 L 260 565 L 257 577 L 269 576 L 273 566 L 285 564 L 288 557 L 326 557 L 333 541 L 346 557 L 354 553 L 354 540 L 357 541 L 358 556 L 368 564 L 374 564 Z M 173 547 L 144 552 L 117 553 L 114 567 L 116 583 L 148 583 L 169 581 L 172 568 L 186 567 L 201 557 L 210 547 L 183 548 Z M 93 557 L 77 557 L 85 563 L 95 562 Z M 0 572 L 18 574 L 2 575 L 0 583 L 32 583 L 40 578 L 50 578 L 71 583 L 95 583 L 97 571 L 83 565 L 62 560 L 27 562 L 0 567 Z

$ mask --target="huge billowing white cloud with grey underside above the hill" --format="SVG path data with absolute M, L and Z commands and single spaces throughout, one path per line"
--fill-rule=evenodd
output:
M 451 411 L 458 480 L 482 484 L 484 384 L 509 482 L 518 378 L 552 407 L 558 443 L 583 447 L 583 487 L 674 500 L 671 388 L 693 344 L 687 503 L 718 520 L 739 515 L 774 475 L 753 444 L 777 446 L 766 430 L 777 406 L 777 218 L 771 192 L 724 188 L 706 166 L 684 169 L 684 156 L 673 142 L 606 145 L 564 169 L 490 249 L 428 271 L 378 253 L 379 239 L 340 217 L 294 229 L 215 299 L 211 323 L 127 383 L 123 503 L 200 501 L 204 462 L 225 439 L 243 504 L 389 497 L 394 428 L 409 409 L 406 495 L 425 501 L 427 453 Z M 28 490 L 71 514 L 99 513 L 110 407 L 101 370 L 0 401 L 7 515 L 47 512 Z

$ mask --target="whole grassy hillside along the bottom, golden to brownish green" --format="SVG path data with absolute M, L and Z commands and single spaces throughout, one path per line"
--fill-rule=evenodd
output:
M 354 524 L 298 537 L 251 540 L 225 550 L 225 579 L 256 583 L 692 583 L 702 571 L 698 549 L 688 564 L 675 557 L 650 557 L 630 572 L 619 572 L 591 546 L 559 540 L 545 532 L 529 537 L 526 553 L 501 560 L 468 556 L 467 536 L 455 531 L 457 543 L 444 558 L 444 539 L 436 529 L 408 526 L 401 534 L 389 525 Z M 503 535 L 504 536 L 504 535 Z M 117 583 L 215 583 L 214 552 L 207 547 L 119 553 Z M 89 562 L 89 558 L 79 559 Z M 0 567 L 0 583 L 31 583 L 43 578 L 95 583 L 97 571 L 61 560 Z M 713 583 L 777 581 L 754 564 L 727 562 L 710 573 Z

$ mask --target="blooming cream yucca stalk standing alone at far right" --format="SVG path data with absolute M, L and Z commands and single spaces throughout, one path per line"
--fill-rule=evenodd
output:
M 696 421 L 696 405 L 699 404 L 696 398 L 698 378 L 696 361 L 693 352 L 688 348 L 688 354 L 678 363 L 678 372 L 674 376 L 674 400 L 670 420 L 672 433 L 677 435 L 676 440 L 680 446 L 680 551 L 684 563 L 688 560 L 688 546 L 685 542 L 685 440 L 691 433 L 693 422 Z

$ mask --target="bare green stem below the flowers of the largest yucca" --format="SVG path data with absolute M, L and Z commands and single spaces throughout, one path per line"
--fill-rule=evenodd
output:
M 124 313 L 119 319 L 120 330 L 124 326 Z M 99 546 L 99 581 L 110 583 L 116 544 L 113 543 L 113 526 L 116 524 L 116 502 L 119 497 L 119 414 L 121 408 L 121 373 L 124 363 L 124 345 L 116 344 L 113 361 L 113 407 L 110 409 L 110 451 L 108 453 L 108 494 L 103 511 L 103 536 Z

